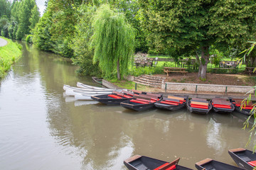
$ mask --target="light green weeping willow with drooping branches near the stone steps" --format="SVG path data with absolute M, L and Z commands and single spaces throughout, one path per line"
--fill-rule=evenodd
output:
M 99 61 L 106 76 L 117 72 L 117 79 L 121 79 L 134 52 L 134 29 L 122 13 L 112 11 L 106 4 L 97 9 L 92 28 L 93 62 Z

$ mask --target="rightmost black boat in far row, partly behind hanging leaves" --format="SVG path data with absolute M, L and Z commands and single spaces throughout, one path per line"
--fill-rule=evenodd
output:
M 245 114 L 245 115 L 251 115 L 251 110 L 253 108 L 253 106 L 255 106 L 255 103 L 252 102 L 245 102 L 245 106 L 242 106 L 242 108 L 240 108 L 242 101 L 244 99 L 243 98 L 230 98 L 230 101 L 232 102 L 233 106 L 235 107 L 235 111 L 238 111 L 239 113 Z

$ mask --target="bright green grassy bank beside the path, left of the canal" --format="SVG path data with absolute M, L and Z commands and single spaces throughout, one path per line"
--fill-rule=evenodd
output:
M 8 42 L 4 47 L 0 47 L 0 78 L 2 78 L 11 69 L 11 64 L 21 57 L 21 45 L 7 38 L 0 38 Z

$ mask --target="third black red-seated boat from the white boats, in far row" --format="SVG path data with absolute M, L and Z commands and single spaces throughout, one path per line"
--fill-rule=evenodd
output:
M 154 103 L 154 106 L 163 110 L 177 111 L 181 108 L 184 108 L 187 102 L 188 96 L 168 96 L 168 98 L 163 98 L 161 101 Z

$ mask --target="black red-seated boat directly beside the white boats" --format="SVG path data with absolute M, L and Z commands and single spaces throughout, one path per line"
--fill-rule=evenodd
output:
M 100 103 L 104 103 L 106 105 L 120 105 L 121 102 L 132 99 L 134 94 L 131 93 L 120 93 L 117 91 L 113 91 L 112 94 L 103 94 L 99 96 L 91 96 L 91 98 L 95 101 L 99 101 Z

